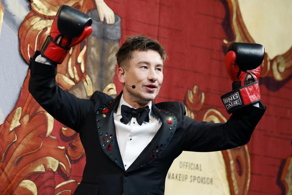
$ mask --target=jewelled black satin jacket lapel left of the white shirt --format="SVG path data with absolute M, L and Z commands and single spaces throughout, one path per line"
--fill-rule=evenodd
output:
M 120 154 L 118 141 L 116 139 L 116 128 L 113 119 L 113 112 L 120 102 L 122 93 L 113 100 L 101 105 L 96 110 L 96 126 L 99 135 L 99 142 L 106 156 L 125 170 Z

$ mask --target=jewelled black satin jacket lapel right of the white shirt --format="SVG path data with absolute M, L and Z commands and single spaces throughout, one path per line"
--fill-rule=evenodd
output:
M 151 142 L 144 148 L 141 154 L 127 169 L 127 172 L 143 168 L 155 161 L 155 159 L 159 158 L 176 131 L 177 120 L 176 116 L 173 115 L 173 113 L 157 108 L 153 102 L 152 112 L 154 115 L 159 117 L 159 119 L 162 121 L 162 125 L 158 129 Z

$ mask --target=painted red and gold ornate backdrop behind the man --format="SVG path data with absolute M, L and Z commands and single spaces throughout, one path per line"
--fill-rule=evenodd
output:
M 96 90 L 120 93 L 115 52 L 126 36 L 144 34 L 168 54 L 155 103 L 181 101 L 195 120 L 225 122 L 229 115 L 220 96 L 231 90 L 224 65 L 228 45 L 263 44 L 260 90 L 267 110 L 252 139 L 227 151 L 183 152 L 169 169 L 165 194 L 292 194 L 288 0 L 0 0 L 0 194 L 67 195 L 82 178 L 78 133 L 28 92 L 27 63 L 61 4 L 93 19 L 92 35 L 57 68 L 58 85 L 79 98 Z

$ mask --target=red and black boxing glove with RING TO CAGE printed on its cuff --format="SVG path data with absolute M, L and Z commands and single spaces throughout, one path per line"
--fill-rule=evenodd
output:
M 225 65 L 232 82 L 232 91 L 221 96 L 230 114 L 246 105 L 261 100 L 259 76 L 265 49 L 255 43 L 231 43 L 225 56 Z

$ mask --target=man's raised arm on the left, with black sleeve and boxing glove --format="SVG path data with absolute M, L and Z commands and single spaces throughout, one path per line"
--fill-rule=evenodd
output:
M 55 119 L 79 131 L 93 100 L 79 99 L 56 83 L 57 64 L 61 64 L 74 45 L 87 38 L 92 19 L 79 10 L 61 5 L 41 51 L 30 59 L 29 91 Z M 37 59 L 37 60 L 36 60 Z M 43 63 L 41 63 L 43 62 Z M 98 95 L 99 93 L 96 92 Z

